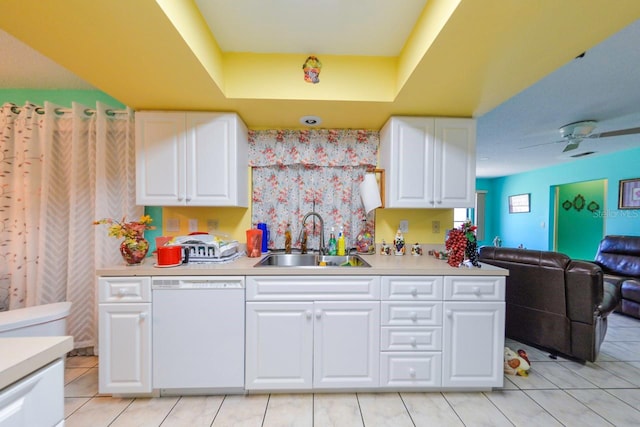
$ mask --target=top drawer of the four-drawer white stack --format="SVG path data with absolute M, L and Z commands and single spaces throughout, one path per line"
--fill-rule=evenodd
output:
M 383 300 L 441 300 L 442 276 L 383 276 Z

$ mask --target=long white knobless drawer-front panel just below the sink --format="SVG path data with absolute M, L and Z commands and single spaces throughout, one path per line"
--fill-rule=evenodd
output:
M 379 276 L 247 276 L 247 301 L 379 299 Z

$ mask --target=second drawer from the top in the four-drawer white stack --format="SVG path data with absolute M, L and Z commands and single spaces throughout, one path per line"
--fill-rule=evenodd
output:
M 440 326 L 441 302 L 383 301 L 382 326 Z

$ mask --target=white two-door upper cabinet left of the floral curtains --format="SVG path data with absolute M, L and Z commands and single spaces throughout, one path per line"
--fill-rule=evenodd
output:
M 136 113 L 136 200 L 248 206 L 247 128 L 233 113 Z

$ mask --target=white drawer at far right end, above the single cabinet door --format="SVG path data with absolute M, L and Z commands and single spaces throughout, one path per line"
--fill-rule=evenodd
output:
M 445 301 L 504 301 L 504 276 L 445 276 Z

